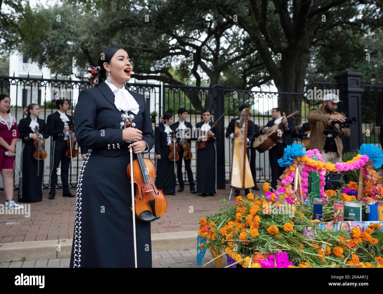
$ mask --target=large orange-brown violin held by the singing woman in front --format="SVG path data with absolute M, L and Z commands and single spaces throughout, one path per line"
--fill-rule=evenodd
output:
M 126 127 L 131 127 L 131 122 L 125 123 Z M 144 158 L 142 154 L 136 154 L 137 159 L 130 162 L 126 168 L 129 180 L 130 165 L 133 164 L 133 184 L 136 187 L 136 196 L 134 197 L 134 213 L 140 221 L 155 221 L 163 216 L 167 210 L 167 201 L 162 193 L 154 184 L 155 167 L 153 162 Z M 132 207 L 130 207 L 132 211 Z

